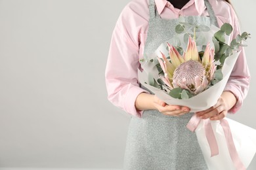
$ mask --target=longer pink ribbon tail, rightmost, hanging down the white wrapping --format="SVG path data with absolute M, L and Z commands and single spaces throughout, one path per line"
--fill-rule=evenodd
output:
M 228 151 L 234 163 L 234 166 L 236 167 L 236 169 L 245 170 L 244 164 L 240 160 L 238 156 L 238 152 L 236 151 L 236 146 L 234 145 L 234 141 L 233 141 L 232 133 L 230 131 L 230 126 L 228 125 L 228 121 L 222 119 L 221 126 L 223 127 L 224 135 L 226 137 L 226 144 L 228 145 Z

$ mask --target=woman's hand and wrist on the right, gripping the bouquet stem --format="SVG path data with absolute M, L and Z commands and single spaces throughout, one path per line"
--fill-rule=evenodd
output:
M 196 112 L 196 114 L 202 119 L 210 118 L 211 120 L 221 120 L 235 104 L 236 97 L 234 94 L 231 92 L 223 92 L 216 105 L 209 109 Z

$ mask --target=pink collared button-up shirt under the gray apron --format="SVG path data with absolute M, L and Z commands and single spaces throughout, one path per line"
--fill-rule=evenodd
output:
M 208 15 L 203 0 L 190 0 L 181 10 L 175 9 L 167 0 L 155 0 L 161 18 L 173 19 L 182 16 Z M 219 25 L 225 22 L 233 26 L 232 39 L 240 28 L 238 19 L 231 5 L 223 0 L 209 0 Z M 142 116 L 142 111 L 135 108 L 139 93 L 146 92 L 139 87 L 137 69 L 142 58 L 148 32 L 148 0 L 133 0 L 121 12 L 114 29 L 106 65 L 106 88 L 108 99 L 117 107 L 134 116 Z M 238 102 L 230 110 L 236 112 L 242 106 L 249 88 L 249 70 L 244 49 L 226 84 L 225 91 L 236 95 Z

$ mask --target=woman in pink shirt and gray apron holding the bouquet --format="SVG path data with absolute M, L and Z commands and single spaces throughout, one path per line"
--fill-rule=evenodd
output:
M 238 19 L 224 0 L 133 0 L 117 20 L 108 63 L 108 99 L 133 115 L 125 151 L 125 169 L 207 169 L 196 135 L 186 124 L 190 108 L 167 105 L 140 87 L 137 70 L 143 54 L 151 53 L 173 35 L 179 16 L 192 24 L 234 28 L 231 39 L 240 33 Z M 249 88 L 249 71 L 244 49 L 230 75 L 223 94 L 213 107 L 197 112 L 200 118 L 220 120 L 236 112 Z

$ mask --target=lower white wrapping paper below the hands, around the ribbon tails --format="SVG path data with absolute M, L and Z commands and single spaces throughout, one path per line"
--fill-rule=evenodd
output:
M 229 118 L 224 119 L 228 121 L 230 126 L 238 156 L 247 168 L 256 152 L 256 130 Z M 211 121 L 211 126 L 213 127 L 213 132 L 219 147 L 219 154 L 213 157 L 211 157 L 211 150 L 205 137 L 203 122 L 203 120 L 200 121 L 200 124 L 196 129 L 196 136 L 209 170 L 235 170 L 236 168 L 230 158 L 230 153 L 228 152 L 228 146 L 226 144 L 224 131 L 221 127 L 220 121 Z

